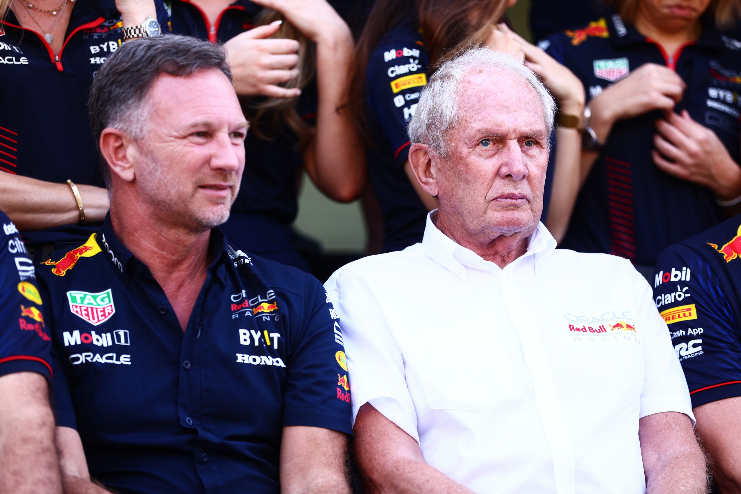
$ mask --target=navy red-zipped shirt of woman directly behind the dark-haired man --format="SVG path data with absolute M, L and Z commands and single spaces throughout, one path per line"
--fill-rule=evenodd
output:
M 256 14 L 262 10 L 251 1 L 237 0 L 211 24 L 206 14 L 190 1 L 173 0 L 170 8 L 173 33 L 213 43 L 224 43 L 252 29 Z M 315 82 L 302 90 L 297 110 L 308 124 L 315 124 Z M 298 214 L 296 184 L 303 166 L 299 140 L 282 127 L 275 132 L 265 128 L 264 133 L 272 138 L 259 138 L 253 128 L 247 133 L 242 184 L 222 229 L 233 244 L 245 250 L 308 271 L 306 261 L 293 247 L 294 235 L 289 229 Z

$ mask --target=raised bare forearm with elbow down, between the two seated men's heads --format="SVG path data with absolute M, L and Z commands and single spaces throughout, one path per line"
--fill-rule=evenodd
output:
M 316 134 L 313 166 L 307 167 L 316 186 L 336 201 L 357 198 L 366 181 L 365 148 L 347 108 L 352 62 L 350 29 L 338 22 L 316 41 Z

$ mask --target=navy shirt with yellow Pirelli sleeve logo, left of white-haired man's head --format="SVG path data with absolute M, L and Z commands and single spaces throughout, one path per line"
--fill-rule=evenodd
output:
M 383 214 L 384 252 L 416 244 L 425 230 L 427 209 L 403 165 L 410 146 L 407 126 L 429 79 L 429 64 L 411 16 L 385 33 L 368 60 L 365 114 L 374 144 L 368 150 L 368 176 Z

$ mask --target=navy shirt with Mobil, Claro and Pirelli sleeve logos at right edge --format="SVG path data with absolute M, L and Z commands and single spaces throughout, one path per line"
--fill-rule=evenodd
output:
M 741 396 L 741 216 L 659 253 L 654 302 L 692 406 Z

